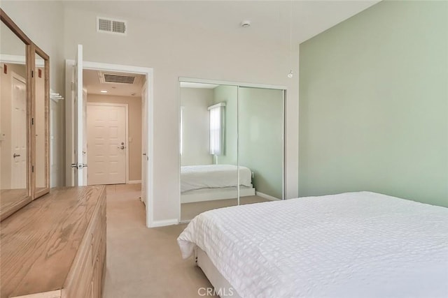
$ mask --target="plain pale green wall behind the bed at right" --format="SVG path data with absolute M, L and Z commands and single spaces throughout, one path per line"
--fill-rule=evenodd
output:
M 448 2 L 381 1 L 300 45 L 299 194 L 448 207 Z

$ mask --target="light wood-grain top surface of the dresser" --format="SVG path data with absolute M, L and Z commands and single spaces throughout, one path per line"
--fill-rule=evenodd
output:
M 62 289 L 105 186 L 52 188 L 0 223 L 0 297 Z

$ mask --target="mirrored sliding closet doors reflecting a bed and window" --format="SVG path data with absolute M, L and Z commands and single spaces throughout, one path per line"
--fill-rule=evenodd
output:
M 283 90 L 181 81 L 181 221 L 283 199 Z

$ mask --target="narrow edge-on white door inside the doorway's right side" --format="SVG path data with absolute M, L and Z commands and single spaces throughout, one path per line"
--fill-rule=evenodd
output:
M 144 87 L 141 89 L 141 201 L 146 204 L 148 193 L 146 191 L 148 183 L 148 126 L 146 125 L 148 121 L 148 116 L 146 113 L 147 107 L 147 83 L 144 84 Z

